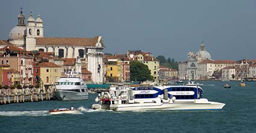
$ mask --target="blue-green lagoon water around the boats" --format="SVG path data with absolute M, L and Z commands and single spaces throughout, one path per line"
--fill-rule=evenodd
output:
M 0 132 L 256 132 L 256 82 L 198 81 L 204 98 L 223 102 L 221 111 L 91 110 L 86 101 L 41 101 L 0 105 Z M 223 84 L 231 84 L 224 89 Z M 80 114 L 48 114 L 53 108 L 81 108 Z

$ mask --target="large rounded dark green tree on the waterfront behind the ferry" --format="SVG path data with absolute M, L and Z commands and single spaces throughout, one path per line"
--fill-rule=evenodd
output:
M 130 73 L 131 81 L 146 81 L 146 80 L 154 80 L 154 77 L 151 75 L 148 66 L 143 64 L 142 62 L 133 61 L 130 62 Z

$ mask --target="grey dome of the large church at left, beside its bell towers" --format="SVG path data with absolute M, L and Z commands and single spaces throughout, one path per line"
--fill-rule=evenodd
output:
M 10 40 L 15 39 L 24 39 L 26 36 L 26 26 L 15 26 L 13 29 L 11 29 L 9 34 Z

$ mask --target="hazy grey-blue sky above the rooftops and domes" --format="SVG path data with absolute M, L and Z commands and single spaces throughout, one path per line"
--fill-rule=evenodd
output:
M 101 35 L 104 53 L 142 50 L 186 61 L 204 41 L 214 60 L 256 59 L 254 0 L 9 0 L 0 7 L 0 40 L 8 40 L 22 7 L 26 20 L 40 13 L 44 37 Z

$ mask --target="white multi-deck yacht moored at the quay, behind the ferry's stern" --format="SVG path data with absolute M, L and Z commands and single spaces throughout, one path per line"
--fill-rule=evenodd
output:
M 55 96 L 59 100 L 88 99 L 86 82 L 80 77 L 74 77 L 75 72 L 70 72 L 67 77 L 61 77 L 56 86 Z

